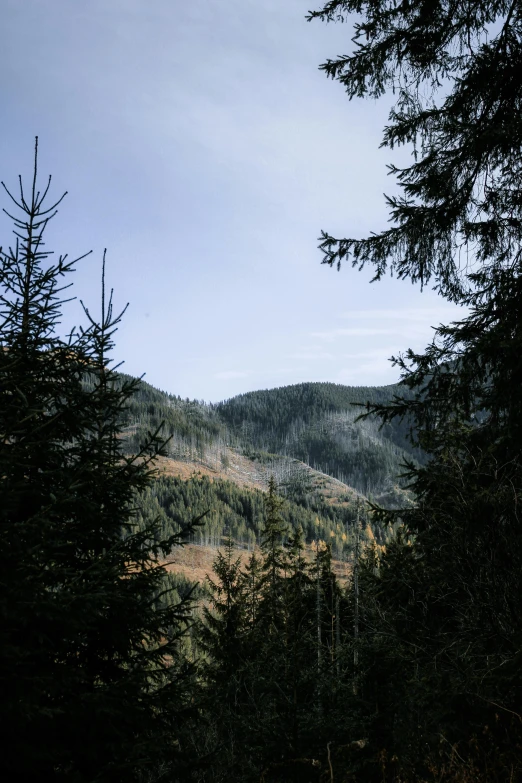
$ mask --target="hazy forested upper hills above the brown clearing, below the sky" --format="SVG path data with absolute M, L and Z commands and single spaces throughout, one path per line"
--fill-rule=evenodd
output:
M 365 495 L 378 495 L 397 484 L 406 459 L 419 461 L 422 455 L 408 439 L 407 422 L 380 429 L 376 418 L 356 421 L 364 408 L 354 403 L 384 404 L 403 391 L 303 383 L 208 405 L 142 381 L 126 413 L 125 450 L 132 453 L 149 431 L 160 428 L 175 459 L 226 466 L 233 448 L 265 465 L 274 463 L 276 471 L 278 460 L 271 455 L 292 457 Z

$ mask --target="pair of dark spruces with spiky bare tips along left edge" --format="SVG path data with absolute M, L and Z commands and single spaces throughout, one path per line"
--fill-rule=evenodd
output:
M 122 453 L 138 382 L 110 368 L 121 315 L 104 286 L 101 319 L 86 310 L 85 329 L 59 335 L 75 262 L 49 263 L 43 250 L 61 201 L 46 208 L 49 185 L 37 190 L 36 146 L 29 197 L 21 179 L 19 198 L 7 191 L 19 213 L 1 255 L 0 770 L 78 783 L 139 780 L 161 765 L 176 775 L 188 604 L 157 604 L 162 561 L 184 531 L 137 525 L 162 444 L 152 434 L 139 454 Z

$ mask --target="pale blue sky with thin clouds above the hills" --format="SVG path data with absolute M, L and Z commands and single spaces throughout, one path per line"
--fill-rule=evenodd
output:
M 394 383 L 389 357 L 462 316 L 434 291 L 321 264 L 322 229 L 387 226 L 391 101 L 319 70 L 350 24 L 313 0 L 3 0 L 0 179 L 68 192 L 47 248 L 79 262 L 62 328 L 97 313 L 101 263 L 122 370 L 217 402 L 304 381 Z M 8 208 L 5 193 L 0 206 Z M 12 242 L 0 218 L 0 244 Z

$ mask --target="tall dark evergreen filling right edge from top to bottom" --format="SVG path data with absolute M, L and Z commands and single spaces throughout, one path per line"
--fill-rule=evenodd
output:
M 383 145 L 412 143 L 415 159 L 390 167 L 404 189 L 388 199 L 395 225 L 366 239 L 323 234 L 324 261 L 433 279 L 470 311 L 424 354 L 394 360 L 413 396 L 368 405 L 385 423 L 409 418 L 428 454 L 409 466 L 417 505 L 375 509 L 404 534 L 362 597 L 363 694 L 380 693 L 372 774 L 519 780 L 521 8 L 332 0 L 309 18 L 355 11 L 355 51 L 322 67 L 350 98 L 391 87 Z

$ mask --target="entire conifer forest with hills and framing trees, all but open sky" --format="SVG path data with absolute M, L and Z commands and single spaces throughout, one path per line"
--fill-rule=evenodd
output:
M 388 227 L 318 226 L 322 263 L 466 315 L 394 385 L 156 389 L 119 369 L 105 254 L 60 331 L 85 257 L 44 242 L 36 139 L 2 183 L 5 783 L 522 783 L 522 5 L 306 18 L 351 20 L 320 68 L 414 149 Z

